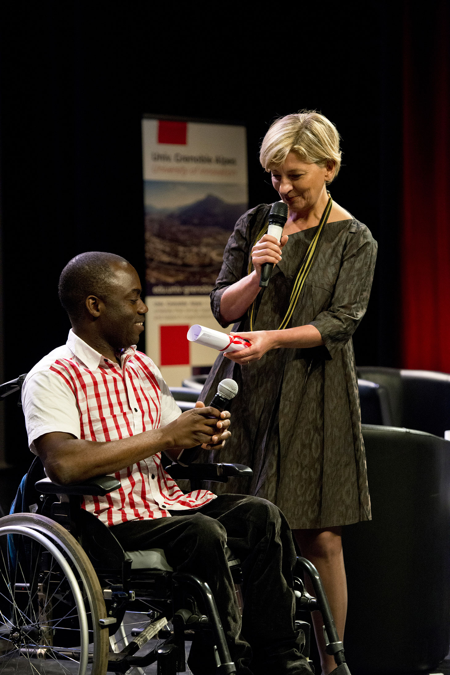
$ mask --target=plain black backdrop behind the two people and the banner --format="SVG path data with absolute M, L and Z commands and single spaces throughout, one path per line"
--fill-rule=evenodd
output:
M 143 276 L 145 112 L 243 121 L 251 206 L 276 198 L 257 160 L 270 121 L 304 108 L 327 115 L 344 150 L 331 194 L 380 246 L 356 359 L 399 365 L 401 3 L 295 3 L 257 16 L 154 4 L 3 7 L 3 377 L 65 342 L 57 281 L 75 254 L 116 252 Z M 9 402 L 11 462 L 29 457 L 19 420 Z

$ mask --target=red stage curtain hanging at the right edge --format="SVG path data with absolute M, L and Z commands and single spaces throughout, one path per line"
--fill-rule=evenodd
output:
M 402 362 L 450 373 L 449 4 L 404 7 Z

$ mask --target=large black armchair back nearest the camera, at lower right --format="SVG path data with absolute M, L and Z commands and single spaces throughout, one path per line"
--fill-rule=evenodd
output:
M 449 651 L 450 442 L 394 427 L 362 435 L 373 520 L 343 532 L 348 666 L 433 672 Z

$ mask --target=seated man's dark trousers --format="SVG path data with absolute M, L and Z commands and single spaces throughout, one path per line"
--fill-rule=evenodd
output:
M 171 567 L 210 585 L 239 674 L 311 674 L 294 627 L 296 553 L 280 510 L 258 497 L 219 495 L 201 508 L 170 514 L 111 530 L 125 551 L 162 548 Z M 242 564 L 242 629 L 226 544 Z M 201 672 L 191 660 L 189 666 Z

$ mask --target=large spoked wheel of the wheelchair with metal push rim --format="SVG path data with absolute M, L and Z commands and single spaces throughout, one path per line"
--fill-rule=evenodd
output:
M 9 535 L 9 539 L 6 542 L 7 534 L 5 535 L 5 533 L 7 533 L 8 529 L 11 527 L 20 528 L 20 535 L 14 533 L 12 535 L 13 539 L 11 539 L 11 535 Z M 27 530 L 30 531 L 29 534 L 27 533 Z M 36 534 L 36 537 L 41 537 L 40 539 L 41 543 L 39 542 L 36 543 L 36 537 L 34 537 L 34 534 Z M 42 537 L 44 539 L 42 539 Z M 69 565 L 67 574 L 64 571 L 65 569 L 67 570 L 67 565 L 59 566 L 58 562 L 55 562 L 55 556 L 53 556 L 52 566 L 49 568 L 50 571 L 45 569 L 46 563 L 42 562 L 42 560 L 44 560 L 42 551 L 45 551 L 46 549 L 45 553 L 47 556 L 49 555 L 48 553 L 49 548 L 45 547 L 44 543 L 45 540 L 50 542 L 49 544 L 50 547 L 52 547 L 52 545 L 55 546 L 57 552 L 59 551 L 60 553 L 60 557 L 61 554 L 63 555 L 63 562 L 64 560 L 67 561 L 67 564 Z M 15 551 L 15 542 L 19 544 L 18 551 Z M 24 571 L 24 562 L 23 562 L 24 560 L 27 561 L 26 562 L 27 565 L 28 563 L 30 564 L 30 571 L 28 572 L 28 577 L 26 570 Z M 43 572 L 42 570 L 45 571 Z M 63 640 L 69 639 L 70 637 L 70 639 L 73 641 L 74 634 L 77 636 L 82 636 L 83 634 L 81 620 L 79 628 L 76 627 L 73 628 L 73 626 L 76 624 L 76 617 L 75 612 L 73 612 L 73 609 L 72 610 L 69 609 L 68 618 L 66 612 L 66 615 L 63 616 L 63 618 L 59 618 L 58 620 L 53 619 L 54 616 L 53 607 L 55 607 L 55 616 L 58 616 L 57 613 L 61 612 L 61 603 L 63 603 L 63 605 L 64 603 L 66 603 L 69 607 L 71 606 L 70 602 L 72 602 L 72 607 L 74 605 L 74 602 L 71 601 L 71 596 L 69 593 L 70 589 L 73 588 L 73 580 L 71 581 L 71 578 L 73 579 L 73 577 L 71 577 L 71 575 L 69 574 L 70 570 L 73 570 L 73 573 L 75 574 L 75 581 L 77 582 L 78 588 L 81 589 L 82 591 L 82 597 L 84 600 L 84 608 L 85 608 L 84 613 L 90 622 L 88 641 L 91 645 L 93 645 L 93 648 L 92 653 L 90 653 L 90 663 L 88 664 L 88 667 L 86 668 L 85 672 L 88 675 L 105 675 L 106 669 L 108 667 L 109 641 L 108 641 L 108 630 L 107 628 L 105 629 L 100 626 L 100 619 L 107 618 L 106 607 L 104 604 L 102 589 L 100 587 L 98 577 L 94 571 L 94 568 L 92 567 L 92 564 L 88 556 L 86 555 L 82 547 L 62 525 L 55 522 L 54 520 L 51 520 L 50 518 L 46 518 L 45 516 L 40 516 L 38 514 L 19 513 L 19 514 L 11 514 L 10 516 L 4 516 L 3 518 L 0 518 L 0 572 L 1 572 L 0 583 L 3 583 L 3 587 L 7 588 L 6 595 L 5 589 L 3 587 L 1 589 L 0 607 L 2 602 L 4 606 L 8 605 L 9 603 L 9 610 L 11 610 L 11 607 L 13 607 L 13 613 L 15 613 L 15 616 L 20 617 L 19 624 L 26 624 L 28 622 L 29 624 L 28 626 L 20 625 L 19 630 L 16 631 L 16 634 L 17 632 L 20 633 L 20 638 L 17 638 L 17 640 L 19 641 L 18 645 L 20 645 L 20 649 L 18 650 L 16 649 L 15 653 L 18 653 L 20 657 L 22 657 L 23 655 L 24 658 L 28 658 L 28 661 L 30 661 L 30 653 L 32 653 L 32 657 L 34 659 L 34 657 L 36 657 L 36 654 L 38 654 L 39 651 L 44 652 L 44 658 L 43 659 L 41 658 L 40 661 L 37 662 L 35 661 L 37 664 L 40 664 L 37 668 L 37 672 L 40 675 L 45 675 L 46 671 L 45 663 L 49 664 L 48 670 L 49 672 L 51 672 L 52 675 L 57 672 L 57 670 L 55 670 L 56 665 L 60 665 L 61 675 L 67 675 L 69 672 L 73 673 L 74 672 L 73 667 L 75 666 L 75 664 L 79 665 L 76 663 L 76 658 L 70 659 L 70 657 L 67 656 L 67 654 L 70 653 L 68 649 L 53 647 L 55 637 L 56 639 L 58 639 L 58 637 L 62 636 Z M 20 575 L 20 578 L 18 577 L 18 573 Z M 53 574 L 53 576 L 51 576 L 51 574 Z M 19 583 L 17 583 L 18 578 Z M 47 588 L 44 599 L 42 599 L 43 597 L 42 588 L 44 587 L 44 584 L 41 585 L 40 593 L 38 593 L 38 591 L 36 590 L 38 588 L 38 580 L 41 580 L 42 578 L 45 580 Z M 59 580 L 59 583 L 55 587 L 55 589 L 57 590 L 59 589 L 59 598 L 57 599 L 57 602 L 54 603 L 53 598 L 57 597 L 56 595 L 54 595 L 56 591 L 49 591 L 49 589 L 51 588 L 51 583 L 55 585 L 55 583 L 57 583 L 57 580 Z M 26 593 L 24 593 L 22 589 L 20 589 L 21 582 L 23 582 L 22 583 L 22 586 L 24 587 L 23 591 L 26 591 Z M 12 588 L 14 589 L 13 591 L 11 591 Z M 16 591 L 17 594 L 19 595 L 16 594 Z M 75 594 L 77 593 L 76 588 L 74 588 L 73 591 L 75 591 Z M 7 597 L 7 595 L 9 595 L 9 597 Z M 17 602 L 15 599 L 16 597 L 18 598 Z M 26 598 L 28 605 L 26 605 L 25 608 L 22 607 L 21 609 L 19 607 L 19 603 L 20 602 L 24 603 L 24 597 Z M 42 603 L 44 603 L 45 606 L 49 605 L 50 607 L 49 616 L 51 616 L 51 621 L 53 622 L 55 628 L 53 628 L 53 630 L 49 632 L 49 634 L 52 634 L 52 637 L 50 642 L 47 641 L 46 643 L 47 645 L 51 644 L 52 647 L 48 647 L 48 649 L 45 648 L 43 650 L 42 649 L 36 650 L 36 645 L 34 645 L 34 647 L 30 646 L 32 645 L 32 639 L 27 637 L 27 631 L 28 634 L 31 634 L 33 630 L 35 631 L 35 633 L 36 631 L 38 632 L 40 631 L 39 632 L 40 641 L 42 641 L 44 629 L 46 628 L 48 630 L 49 620 L 46 619 L 42 623 L 40 621 L 42 611 L 44 612 L 44 618 L 46 618 L 45 610 L 42 610 Z M 16 604 L 17 609 L 15 608 Z M 38 609 L 39 620 L 38 622 L 36 622 L 35 607 L 38 607 L 38 605 L 40 607 Z M 57 605 L 60 605 L 59 609 L 57 609 Z M 88 612 L 86 612 L 86 609 L 88 610 Z M 8 626 L 10 628 L 10 625 L 12 625 L 11 620 L 9 620 L 7 616 L 5 616 L 4 612 L 5 610 L 3 611 L 0 610 L 0 622 L 1 624 L 3 624 L 3 645 L 5 645 L 4 626 Z M 79 617 L 79 612 L 77 616 Z M 70 620 L 69 628 L 64 628 L 63 620 L 65 620 L 66 622 Z M 44 626 L 44 628 L 42 628 L 42 626 Z M 58 628 L 56 628 L 56 626 L 58 626 Z M 64 633 L 63 630 L 66 630 L 66 632 Z M 75 632 L 76 630 L 78 630 L 79 632 Z M 13 633 L 11 632 L 11 634 Z M 36 642 L 35 636 L 33 639 Z M 82 643 L 80 644 L 83 644 L 83 639 Z M 7 645 L 11 645 L 11 641 L 9 641 Z M 11 646 L 5 647 L 5 649 L 7 649 L 6 653 L 8 655 L 9 654 L 12 655 L 13 651 L 11 650 Z M 45 653 L 46 649 L 47 651 L 49 651 L 49 654 L 51 655 L 50 658 L 46 656 Z M 80 647 L 80 651 L 82 651 L 82 647 Z M 59 659 L 55 658 L 55 653 L 56 654 L 61 653 L 63 655 L 63 657 L 61 657 L 61 664 L 59 664 Z M 11 657 L 12 656 L 10 656 L 9 659 L 11 659 Z M 68 658 L 69 661 L 71 661 L 71 663 L 67 662 L 67 660 L 63 660 L 66 658 Z M 0 661 L 1 659 L 2 656 L 0 654 Z M 45 659 L 47 659 L 47 661 L 45 661 Z M 73 663 L 74 661 L 75 664 Z M 64 664 L 70 667 L 69 668 L 65 667 Z M 34 664 L 32 665 L 31 661 L 29 665 L 30 665 L 29 668 L 30 672 L 36 673 L 36 666 L 34 666 Z M 9 668 L 7 668 L 5 672 L 7 672 L 7 670 L 9 670 Z M 80 672 L 80 668 L 78 668 L 78 672 L 79 675 L 84 675 L 84 673 Z

